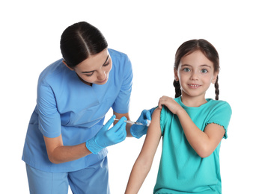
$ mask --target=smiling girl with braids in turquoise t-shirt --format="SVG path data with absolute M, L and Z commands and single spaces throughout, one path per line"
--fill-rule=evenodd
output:
M 126 193 L 138 193 L 162 137 L 153 193 L 222 193 L 219 148 L 231 107 L 219 101 L 219 54 L 207 40 L 189 40 L 176 52 L 175 98 L 162 96 L 136 160 Z M 215 84 L 216 100 L 205 98 Z

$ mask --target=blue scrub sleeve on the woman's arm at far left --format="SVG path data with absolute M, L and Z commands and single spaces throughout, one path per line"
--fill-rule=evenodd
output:
M 55 95 L 45 81 L 37 85 L 37 109 L 39 130 L 45 137 L 61 135 L 61 116 L 58 113 Z

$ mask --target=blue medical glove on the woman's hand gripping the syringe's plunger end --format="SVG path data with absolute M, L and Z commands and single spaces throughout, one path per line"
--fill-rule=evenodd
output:
M 106 125 L 100 129 L 100 131 L 93 137 L 91 140 L 86 142 L 86 147 L 93 154 L 99 153 L 100 150 L 106 148 L 109 145 L 114 145 L 121 143 L 127 137 L 126 125 L 127 123 L 124 120 L 127 120 L 126 117 L 122 117 L 114 127 L 110 128 L 110 125 L 114 122 L 115 115 L 113 115 Z

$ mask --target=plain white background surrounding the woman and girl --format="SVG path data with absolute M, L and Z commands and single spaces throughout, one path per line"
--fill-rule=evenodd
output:
M 36 101 L 40 72 L 61 58 L 62 31 L 87 21 L 114 48 L 129 55 L 134 79 L 130 117 L 174 97 L 174 53 L 186 40 L 204 38 L 219 51 L 220 99 L 231 104 L 228 139 L 220 153 L 223 193 L 255 191 L 255 4 L 253 1 L 1 1 L 1 187 L 28 193 L 22 148 Z M 214 98 L 210 87 L 207 98 Z M 112 113 L 112 110 L 111 110 Z M 110 113 L 106 116 L 109 119 Z M 112 194 L 124 193 L 140 140 L 109 147 Z M 161 143 L 140 193 L 152 193 Z

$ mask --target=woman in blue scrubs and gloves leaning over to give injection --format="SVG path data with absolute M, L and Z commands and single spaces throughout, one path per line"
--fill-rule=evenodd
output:
M 110 193 L 107 149 L 146 134 L 130 125 L 132 65 L 126 54 L 108 48 L 103 34 L 87 22 L 61 35 L 63 59 L 40 74 L 22 160 L 31 193 Z M 114 115 L 103 125 L 112 107 Z M 147 124 L 151 110 L 138 122 Z M 115 117 L 120 119 L 111 128 Z

